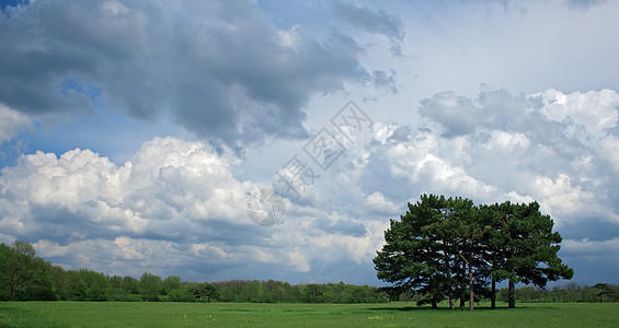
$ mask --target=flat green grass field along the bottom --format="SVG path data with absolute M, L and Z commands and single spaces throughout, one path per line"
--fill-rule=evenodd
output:
M 618 303 L 484 305 L 0 302 L 0 327 L 619 327 Z

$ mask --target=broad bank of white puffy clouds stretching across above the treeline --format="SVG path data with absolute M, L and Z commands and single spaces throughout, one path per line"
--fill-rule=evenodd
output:
M 248 218 L 256 186 L 237 177 L 241 160 L 205 142 L 156 138 L 123 165 L 79 149 L 23 155 L 0 176 L 2 238 L 36 241 L 42 256 L 70 268 L 123 274 L 307 282 L 342 273 L 365 283 L 371 268 L 359 270 L 382 245 L 388 219 L 432 192 L 477 203 L 537 200 L 566 239 L 592 231 L 612 239 L 615 92 L 433 98 L 433 110 L 460 103 L 482 119 L 458 134 L 445 133 L 446 115 L 429 112 L 414 125 L 375 121 L 367 138 L 320 172 L 309 196 L 286 201 L 283 222 L 266 229 Z

